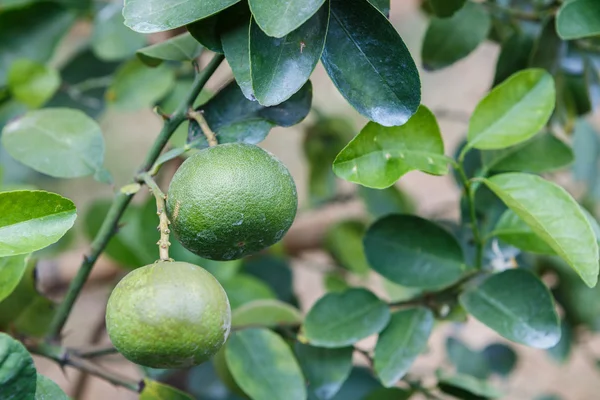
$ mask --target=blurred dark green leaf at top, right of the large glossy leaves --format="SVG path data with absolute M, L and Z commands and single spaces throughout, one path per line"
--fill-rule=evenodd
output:
M 450 18 L 432 18 L 421 49 L 423 67 L 434 71 L 465 58 L 485 40 L 490 27 L 487 11 L 471 1 Z

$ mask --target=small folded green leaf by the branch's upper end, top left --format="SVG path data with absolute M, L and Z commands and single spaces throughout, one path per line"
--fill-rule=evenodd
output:
M 146 65 L 155 67 L 163 61 L 192 61 L 202 53 L 202 45 L 189 33 L 144 47 L 137 56 Z

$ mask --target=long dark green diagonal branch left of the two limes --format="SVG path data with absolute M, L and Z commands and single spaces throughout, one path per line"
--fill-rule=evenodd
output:
M 215 54 L 206 68 L 196 75 L 192 87 L 190 88 L 190 91 L 185 99 L 183 99 L 175 112 L 164 121 L 163 127 L 156 138 L 156 141 L 150 148 L 150 151 L 146 155 L 146 159 L 140 167 L 140 173 L 148 172 L 152 168 L 160 156 L 163 148 L 167 145 L 171 135 L 173 135 L 179 125 L 186 120 L 189 108 L 192 106 L 208 79 L 217 70 L 224 58 L 225 57 L 222 54 Z M 138 183 L 143 183 L 143 180 L 140 180 L 139 178 L 134 180 Z M 71 313 L 71 309 L 73 308 L 73 305 L 75 304 L 83 285 L 90 275 L 94 264 L 96 264 L 96 260 L 106 248 L 109 240 L 116 233 L 119 220 L 127 209 L 127 206 L 131 202 L 134 194 L 135 193 L 126 193 L 124 191 L 119 191 L 116 194 L 110 210 L 102 222 L 100 230 L 92 241 L 90 252 L 83 257 L 83 262 L 79 267 L 79 271 L 77 272 L 77 275 L 75 275 L 73 281 L 71 281 L 71 284 L 67 290 L 67 294 L 62 303 L 59 305 L 56 314 L 54 315 L 54 319 L 50 325 L 50 330 L 48 331 L 48 340 L 57 340 L 59 338 L 60 332 L 62 331 L 65 323 L 67 322 L 67 318 Z

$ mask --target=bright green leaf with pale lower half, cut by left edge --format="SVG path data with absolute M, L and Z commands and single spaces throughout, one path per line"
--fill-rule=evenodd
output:
M 43 249 L 57 242 L 75 222 L 69 199 L 42 190 L 0 193 L 0 257 Z

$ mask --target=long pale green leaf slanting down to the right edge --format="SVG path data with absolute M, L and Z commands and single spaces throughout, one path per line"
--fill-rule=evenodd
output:
M 598 243 L 581 207 L 566 190 L 538 176 L 508 173 L 485 184 L 590 287 L 598 281 Z

